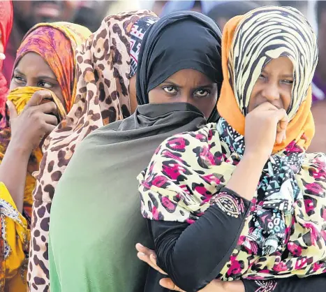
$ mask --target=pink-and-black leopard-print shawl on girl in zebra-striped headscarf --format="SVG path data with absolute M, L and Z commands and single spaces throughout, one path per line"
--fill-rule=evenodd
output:
M 237 211 L 230 206 L 239 204 L 219 196 L 243 154 L 244 137 L 223 118 L 168 138 L 138 176 L 143 217 L 192 224 L 216 203 Z M 218 278 L 326 272 L 325 219 L 326 156 L 290 143 L 265 164 L 237 247 Z

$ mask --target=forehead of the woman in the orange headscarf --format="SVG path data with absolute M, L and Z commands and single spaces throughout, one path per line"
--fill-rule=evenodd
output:
M 38 76 L 45 75 L 50 78 L 56 78 L 50 66 L 45 60 L 35 52 L 28 52 L 18 62 L 15 70 L 19 70 L 24 75 Z

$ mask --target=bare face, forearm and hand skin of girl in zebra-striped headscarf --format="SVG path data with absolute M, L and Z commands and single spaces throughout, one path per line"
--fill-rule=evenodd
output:
M 239 196 L 252 200 L 262 173 L 262 168 L 275 143 L 286 138 L 288 110 L 291 102 L 293 65 L 287 57 L 273 59 L 265 66 L 255 82 L 249 101 L 249 113 L 246 115 L 245 144 L 242 160 L 235 168 L 225 187 Z M 156 265 L 155 252 L 142 244 L 137 244 L 138 258 L 152 268 L 166 275 Z M 171 279 L 162 279 L 161 286 L 174 291 L 182 291 Z M 244 292 L 242 281 L 221 282 L 214 280 L 201 292 Z

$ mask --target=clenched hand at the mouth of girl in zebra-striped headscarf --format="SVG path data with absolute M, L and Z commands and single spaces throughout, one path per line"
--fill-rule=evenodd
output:
M 275 143 L 282 143 L 286 138 L 288 126 L 286 110 L 276 108 L 271 103 L 262 103 L 246 115 L 244 140 L 245 153 L 262 156 L 265 162 L 272 154 Z

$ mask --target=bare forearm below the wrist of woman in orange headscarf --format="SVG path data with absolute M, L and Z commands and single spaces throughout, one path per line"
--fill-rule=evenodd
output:
M 0 182 L 6 185 L 18 212 L 22 212 L 29 152 L 10 141 L 0 165 Z

